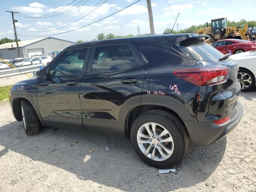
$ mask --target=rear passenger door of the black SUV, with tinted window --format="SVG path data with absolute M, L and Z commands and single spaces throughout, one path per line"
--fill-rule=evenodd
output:
M 130 98 L 140 104 L 145 74 L 146 64 L 134 46 L 93 47 L 80 88 L 84 127 L 121 134 L 120 109 Z

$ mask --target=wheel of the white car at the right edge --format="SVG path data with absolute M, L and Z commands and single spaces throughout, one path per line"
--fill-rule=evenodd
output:
M 240 69 L 237 74 L 237 80 L 241 85 L 242 91 L 250 91 L 255 87 L 255 77 L 252 72 L 246 69 Z

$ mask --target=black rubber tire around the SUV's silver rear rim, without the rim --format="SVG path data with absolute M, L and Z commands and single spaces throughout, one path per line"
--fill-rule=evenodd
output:
M 154 122 L 160 124 L 171 134 L 174 148 L 171 156 L 166 160 L 156 161 L 148 156 L 146 156 L 137 142 L 137 133 L 140 127 L 148 122 Z M 186 134 L 184 125 L 180 122 L 180 120 L 172 115 L 169 112 L 164 110 L 150 110 L 144 112 L 142 115 L 138 116 L 138 118 L 132 124 L 130 139 L 132 142 L 132 146 L 136 152 L 136 154 L 147 164 L 156 168 L 171 168 L 178 164 L 180 160 L 185 155 L 188 149 L 188 135 Z M 159 153 L 159 150 L 158 150 Z

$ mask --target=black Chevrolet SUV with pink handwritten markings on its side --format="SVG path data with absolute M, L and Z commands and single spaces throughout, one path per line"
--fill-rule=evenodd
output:
M 14 117 L 28 135 L 42 125 L 125 136 L 151 166 L 172 167 L 189 138 L 196 146 L 214 143 L 242 118 L 238 65 L 208 38 L 171 34 L 69 46 L 36 78 L 12 87 Z

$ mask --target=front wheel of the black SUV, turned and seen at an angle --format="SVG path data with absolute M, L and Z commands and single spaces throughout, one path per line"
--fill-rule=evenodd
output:
M 30 102 L 24 99 L 21 101 L 20 107 L 22 111 L 22 121 L 25 133 L 27 135 L 38 133 L 40 123 L 33 106 L 30 104 Z

